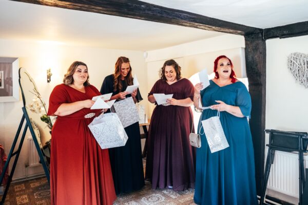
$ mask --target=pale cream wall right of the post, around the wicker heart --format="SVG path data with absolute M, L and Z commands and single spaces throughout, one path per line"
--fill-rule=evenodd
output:
M 266 129 L 308 132 L 308 89 L 287 68 L 288 55 L 308 54 L 307 45 L 308 35 L 266 40 Z

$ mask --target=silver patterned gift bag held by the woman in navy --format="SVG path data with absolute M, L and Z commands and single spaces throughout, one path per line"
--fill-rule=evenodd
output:
M 132 97 L 117 101 L 111 110 L 118 114 L 124 128 L 139 121 L 139 114 Z

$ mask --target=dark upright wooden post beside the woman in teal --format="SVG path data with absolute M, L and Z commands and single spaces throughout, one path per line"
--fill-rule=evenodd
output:
M 261 194 L 264 179 L 265 101 L 266 101 L 266 45 L 262 33 L 245 37 L 246 72 L 252 113 L 249 119 L 255 152 L 257 194 Z

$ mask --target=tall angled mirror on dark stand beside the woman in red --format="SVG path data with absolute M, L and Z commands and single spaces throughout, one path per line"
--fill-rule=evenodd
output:
M 27 70 L 20 68 L 19 75 L 24 107 L 38 144 L 49 163 L 52 123 L 47 116 L 46 104 Z

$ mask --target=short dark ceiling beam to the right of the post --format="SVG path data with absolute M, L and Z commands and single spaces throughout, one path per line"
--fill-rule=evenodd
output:
M 299 22 L 285 26 L 264 29 L 264 40 L 271 38 L 288 38 L 308 34 L 308 22 Z

